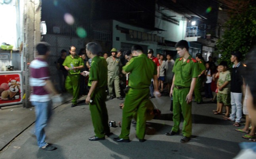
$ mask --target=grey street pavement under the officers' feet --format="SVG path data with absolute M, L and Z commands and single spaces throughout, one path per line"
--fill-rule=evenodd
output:
M 79 100 L 85 100 L 85 97 Z M 106 102 L 109 121 L 116 123 L 121 121 L 122 110 L 119 109 L 118 104 L 122 101 L 114 98 Z M 169 111 L 170 98 L 162 96 L 159 99 L 153 98 L 152 101 L 162 114 L 148 121 L 146 142 L 143 143 L 135 138 L 133 124 L 130 133 L 132 141 L 129 143 L 113 141 L 113 138 L 120 134 L 120 127 L 111 127 L 110 130 L 114 135 L 106 137 L 106 140 L 89 141 L 88 138 L 94 135 L 89 105 L 81 101 L 82 103 L 73 108 L 70 107 L 71 102 L 56 107 L 52 120 L 46 128 L 46 142 L 58 147 L 55 151 L 38 149 L 36 138 L 30 133 L 34 126 L 32 124 L 34 111 L 25 109 L 22 116 L 29 115 L 29 120 L 21 119 L 27 121 L 20 124 L 24 130 L 15 129 L 19 136 L 2 148 L 0 159 L 232 159 L 240 150 L 238 144 L 246 141 L 241 138 L 242 133 L 235 131 L 233 122 L 225 121 L 222 115 L 212 113 L 212 110 L 216 109 L 216 104 L 205 102 L 200 105 L 193 103 L 193 136 L 190 142 L 183 144 L 180 142 L 181 134 L 165 135 L 173 125 L 172 112 Z M 0 113 L 2 121 L 2 114 L 5 112 L 0 111 Z M 13 118 L 18 119 L 15 116 L 9 117 L 10 125 Z M 12 126 L 7 129 L 1 125 L 0 132 L 3 131 L 14 130 Z M 4 140 L 4 136 L 0 137 L 1 141 Z

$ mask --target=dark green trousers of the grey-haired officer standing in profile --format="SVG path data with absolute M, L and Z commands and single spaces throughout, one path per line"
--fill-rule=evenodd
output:
M 97 88 L 92 94 L 90 105 L 90 114 L 92 118 L 92 125 L 94 127 L 95 136 L 98 138 L 105 137 L 105 133 L 110 132 L 108 126 L 108 110 L 106 107 L 107 93 L 104 88 Z

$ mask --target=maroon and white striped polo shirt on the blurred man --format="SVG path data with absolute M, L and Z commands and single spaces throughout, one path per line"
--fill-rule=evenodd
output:
M 50 94 L 44 89 L 46 80 L 50 80 L 48 63 L 41 58 L 35 58 L 30 65 L 29 85 L 32 87 L 31 102 L 48 102 Z

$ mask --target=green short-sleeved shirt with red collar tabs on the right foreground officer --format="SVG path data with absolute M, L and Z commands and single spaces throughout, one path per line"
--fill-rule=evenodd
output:
M 192 78 L 198 77 L 198 64 L 191 56 L 183 62 L 183 57 L 177 58 L 173 66 L 176 86 L 190 87 Z

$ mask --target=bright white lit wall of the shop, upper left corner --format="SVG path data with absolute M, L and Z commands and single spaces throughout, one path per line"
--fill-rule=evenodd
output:
M 24 0 L 0 3 L 0 44 L 6 42 L 18 48 L 23 41 Z

